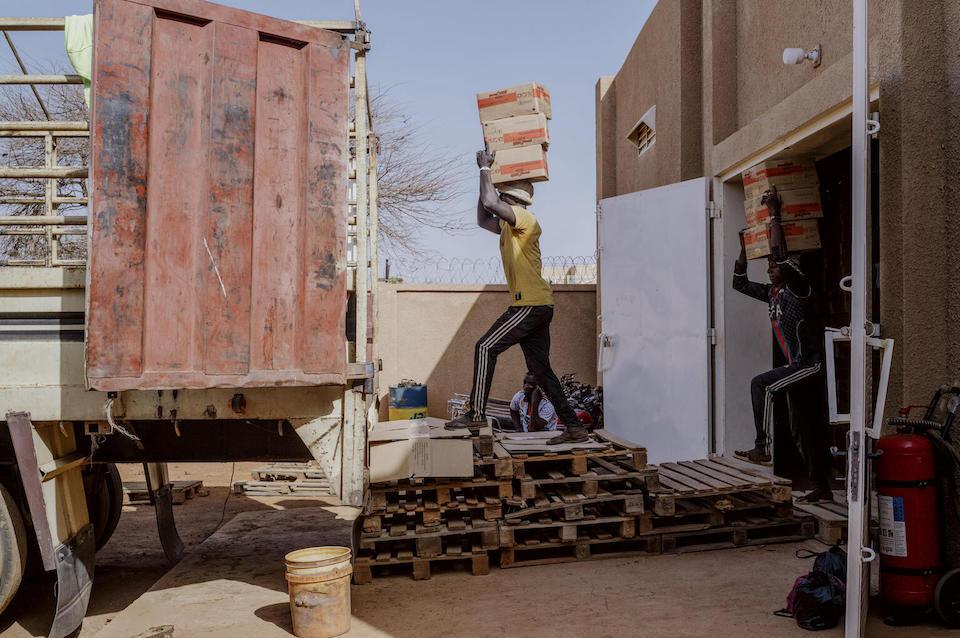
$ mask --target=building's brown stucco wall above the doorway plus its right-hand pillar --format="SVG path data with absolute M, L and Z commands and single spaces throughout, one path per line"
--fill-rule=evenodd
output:
M 681 26 L 686 6 L 658 4 L 601 101 L 598 130 L 612 120 L 618 133 L 615 148 L 609 134 L 598 147 L 598 197 L 693 176 L 671 140 L 684 147 L 696 128 L 699 170 L 716 176 L 850 99 L 849 0 L 703 0 L 698 19 L 687 18 L 699 38 Z M 895 410 L 960 379 L 960 2 L 872 0 L 870 36 L 882 124 L 880 316 L 897 341 L 887 401 Z M 783 48 L 816 44 L 819 68 L 783 65 Z M 696 71 L 685 64 L 694 59 Z M 677 96 L 694 81 L 699 95 Z M 622 138 L 654 101 L 657 148 L 638 160 Z M 679 122 L 668 114 L 678 108 Z M 694 112 L 699 124 L 688 122 Z

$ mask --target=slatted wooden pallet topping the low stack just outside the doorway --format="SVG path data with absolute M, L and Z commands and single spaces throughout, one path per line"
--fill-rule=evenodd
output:
M 756 493 L 770 502 L 790 502 L 789 480 L 744 468 L 722 457 L 661 463 L 658 469 L 660 488 L 651 494 L 651 500 L 654 512 L 662 516 L 671 515 L 678 498 Z

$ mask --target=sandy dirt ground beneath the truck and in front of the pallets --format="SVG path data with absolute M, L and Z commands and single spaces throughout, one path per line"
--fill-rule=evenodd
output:
M 210 494 L 175 506 L 188 553 L 171 569 L 149 507 L 127 506 L 97 555 L 80 638 L 133 638 L 169 624 L 183 636 L 291 635 L 282 556 L 297 547 L 344 543 L 353 508 L 321 499 L 225 497 L 253 463 L 171 465 Z M 125 466 L 128 480 L 142 480 Z M 223 515 L 224 524 L 217 530 Z M 217 530 L 216 534 L 211 534 Z M 208 538 L 209 537 L 209 538 Z M 204 542 L 205 541 L 205 542 Z M 815 542 L 807 543 L 822 549 Z M 572 564 L 492 569 L 487 576 L 399 574 L 352 588 L 350 636 L 805 636 L 772 615 L 809 561 L 797 544 Z M 0 620 L 0 635 L 45 635 L 52 585 L 24 587 Z M 868 636 L 948 635 L 935 626 L 892 629 L 871 618 Z M 824 632 L 839 636 L 841 631 Z

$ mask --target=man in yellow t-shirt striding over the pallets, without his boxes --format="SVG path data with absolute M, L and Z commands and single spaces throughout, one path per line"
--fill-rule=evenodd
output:
M 563 433 L 549 442 L 586 441 L 587 430 L 567 402 L 560 380 L 550 367 L 553 292 L 540 273 L 540 224 L 527 210 L 527 206 L 533 203 L 533 184 L 526 180 L 500 184 L 498 193 L 490 179 L 493 155 L 487 151 L 478 152 L 477 164 L 480 166 L 477 225 L 500 235 L 500 257 L 512 303 L 477 341 L 467 412 L 449 421 L 447 428 L 479 428 L 486 424 L 487 398 L 497 357 L 519 343 L 527 368 L 556 408 L 564 426 Z

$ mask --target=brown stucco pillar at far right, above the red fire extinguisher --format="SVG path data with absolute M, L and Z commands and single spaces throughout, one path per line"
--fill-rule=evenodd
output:
M 880 57 L 881 321 L 888 405 L 960 378 L 960 4 L 886 3 Z

